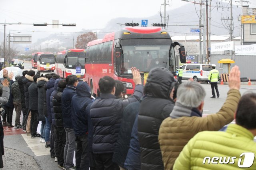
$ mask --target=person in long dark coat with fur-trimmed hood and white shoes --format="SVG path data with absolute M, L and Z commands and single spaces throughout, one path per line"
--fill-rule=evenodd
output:
M 45 143 L 45 129 L 46 122 L 44 117 L 44 95 L 46 91 L 44 87 L 49 80 L 46 77 L 40 77 L 37 79 L 36 87 L 38 88 L 38 121 L 41 121 L 41 138 L 40 142 Z

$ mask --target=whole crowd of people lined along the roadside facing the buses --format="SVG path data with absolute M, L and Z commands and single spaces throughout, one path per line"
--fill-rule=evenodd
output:
M 238 159 L 204 164 L 204 158 L 256 153 L 256 94 L 241 97 L 237 66 L 230 72 L 226 101 L 207 117 L 202 117 L 206 91 L 200 83 L 180 84 L 168 69 L 155 67 L 143 86 L 139 70 L 131 70 L 136 86 L 126 99 L 123 83 L 109 76 L 100 78 L 94 99 L 88 82 L 76 75 L 62 79 L 30 70 L 12 82 L 13 74 L 5 73 L 10 88 L 4 80 L 3 125 L 13 127 L 15 108 L 14 128 L 40 138 L 64 170 L 236 169 L 241 165 Z M 234 118 L 236 124 L 230 124 Z M 39 121 L 41 134 L 36 132 Z M 252 163 L 246 168 L 256 169 L 256 160 Z

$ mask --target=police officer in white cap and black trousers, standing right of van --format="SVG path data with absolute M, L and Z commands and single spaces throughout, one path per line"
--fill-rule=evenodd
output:
M 215 69 L 216 65 L 212 64 L 212 70 L 210 71 L 208 81 L 211 84 L 212 87 L 212 97 L 211 98 L 216 98 L 215 93 L 214 93 L 214 88 L 217 93 L 217 97 L 220 97 L 219 90 L 218 90 L 218 81 L 220 79 L 219 71 Z

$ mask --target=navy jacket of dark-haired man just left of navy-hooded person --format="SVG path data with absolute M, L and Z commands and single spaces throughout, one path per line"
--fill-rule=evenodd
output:
M 72 97 L 76 94 L 76 87 L 73 85 L 67 85 L 62 92 L 61 96 L 61 105 L 62 105 L 62 118 L 63 125 L 65 128 L 73 128 L 72 125 L 72 110 L 71 110 L 71 101 Z

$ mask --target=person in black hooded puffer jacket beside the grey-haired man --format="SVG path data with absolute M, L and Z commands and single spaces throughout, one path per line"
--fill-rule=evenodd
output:
M 175 82 L 173 74 L 164 67 L 156 67 L 148 75 L 144 87 L 146 96 L 140 103 L 138 115 L 141 170 L 164 170 L 158 131 L 174 107 Z

